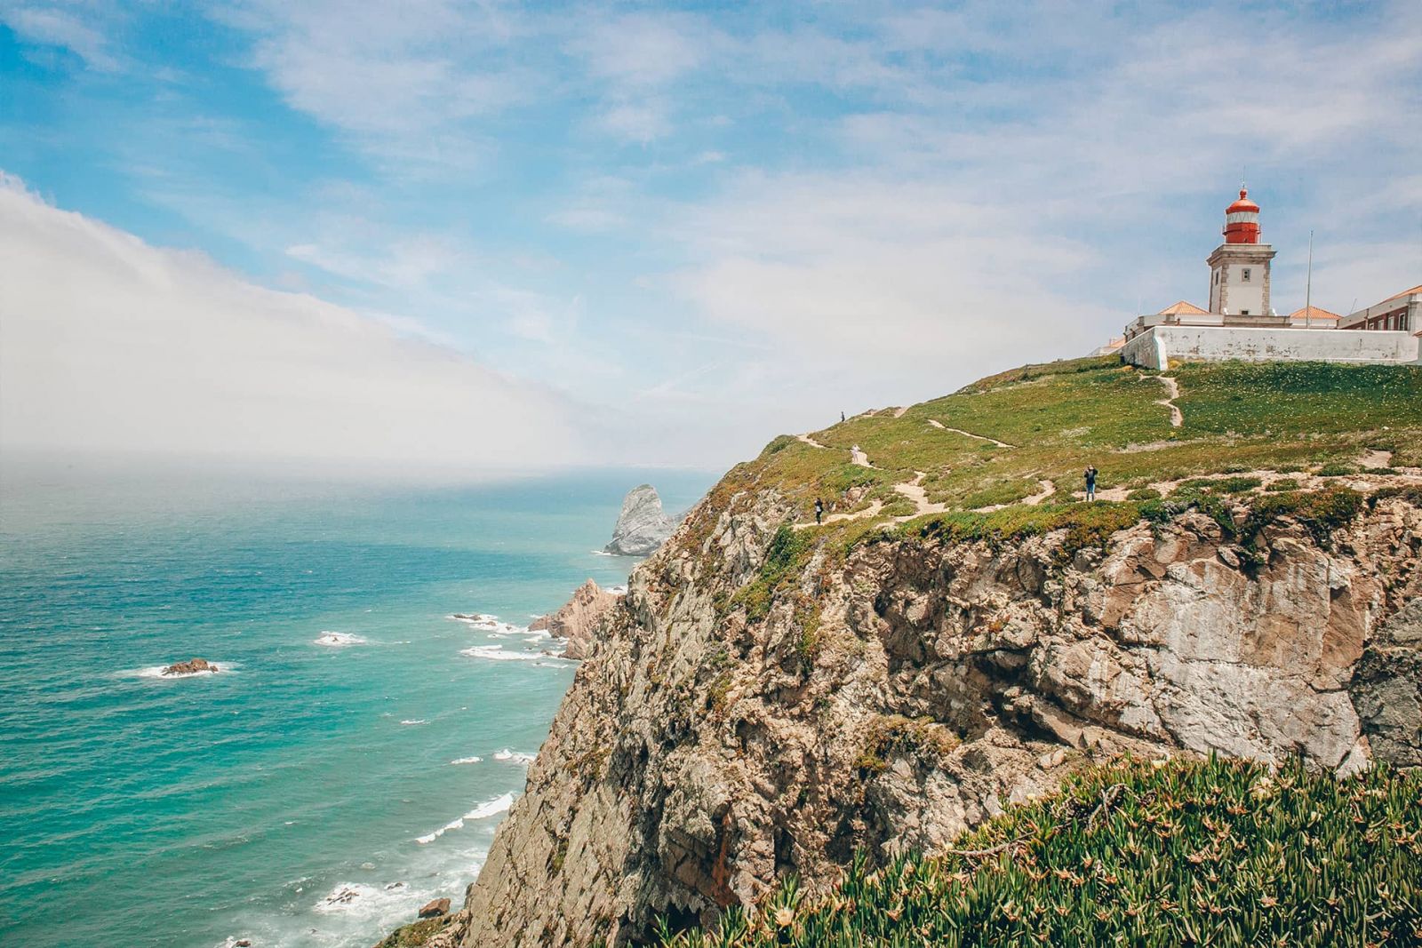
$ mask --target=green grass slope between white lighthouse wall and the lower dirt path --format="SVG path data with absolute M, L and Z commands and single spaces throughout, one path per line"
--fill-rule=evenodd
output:
M 830 451 L 776 438 L 742 466 L 738 483 L 779 488 L 808 519 L 816 496 L 836 510 L 855 509 L 843 496 L 852 488 L 893 500 L 887 489 L 914 472 L 926 475 L 930 500 L 971 509 L 1014 503 L 1044 479 L 1062 493 L 1081 490 L 1088 463 L 1101 470 L 1101 489 L 1254 469 L 1332 473 L 1374 446 L 1395 449 L 1394 463 L 1422 463 L 1422 449 L 1412 448 L 1422 445 L 1422 370 L 1415 367 L 1197 362 L 1172 375 L 1180 384 L 1182 428 L 1172 428 L 1169 409 L 1155 404 L 1165 398 L 1156 372 L 1111 357 L 1072 360 L 990 377 L 900 418 L 856 416 L 815 432 Z M 943 431 L 930 419 L 1014 446 Z M 879 470 L 849 463 L 852 445 Z

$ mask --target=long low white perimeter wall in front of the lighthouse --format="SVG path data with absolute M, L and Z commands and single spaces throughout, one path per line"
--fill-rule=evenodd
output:
M 1367 330 L 1261 330 L 1227 325 L 1156 325 L 1130 340 L 1121 357 L 1132 365 L 1165 368 L 1166 360 L 1247 362 L 1416 362 L 1412 333 Z

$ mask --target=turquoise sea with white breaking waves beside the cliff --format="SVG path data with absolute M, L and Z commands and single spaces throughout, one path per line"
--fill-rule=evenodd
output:
M 592 550 L 648 479 L 712 480 L 7 472 L 0 942 L 370 945 L 461 901 L 574 671 L 522 627 L 626 580 Z M 223 671 L 154 677 L 189 657 Z

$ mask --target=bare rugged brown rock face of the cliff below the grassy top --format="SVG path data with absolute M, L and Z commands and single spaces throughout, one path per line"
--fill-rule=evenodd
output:
M 1185 513 L 1085 546 L 890 536 L 786 567 L 715 492 L 633 574 L 469 888 L 462 945 L 626 944 L 934 849 L 1123 750 L 1422 765 L 1422 510 Z M 779 530 L 779 532 L 778 532 Z M 1081 546 L 1082 549 L 1075 549 Z

